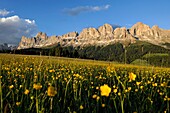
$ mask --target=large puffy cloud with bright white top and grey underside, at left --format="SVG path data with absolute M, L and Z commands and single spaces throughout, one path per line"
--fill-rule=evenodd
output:
M 22 36 L 30 37 L 37 32 L 34 20 L 17 15 L 0 18 L 0 43 L 18 44 Z

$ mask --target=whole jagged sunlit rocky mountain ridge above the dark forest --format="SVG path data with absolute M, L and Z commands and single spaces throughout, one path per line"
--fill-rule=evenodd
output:
M 113 28 L 110 24 L 104 24 L 98 29 L 85 28 L 80 32 L 69 32 L 62 36 L 47 36 L 46 33 L 39 32 L 35 37 L 27 38 L 23 36 L 18 45 L 18 49 L 41 48 L 60 44 L 61 46 L 85 47 L 90 45 L 110 45 L 122 43 L 129 45 L 137 40 L 146 41 L 154 45 L 163 46 L 170 43 L 170 30 L 164 30 L 158 26 L 150 28 L 141 22 L 136 23 L 130 29 L 125 27 Z

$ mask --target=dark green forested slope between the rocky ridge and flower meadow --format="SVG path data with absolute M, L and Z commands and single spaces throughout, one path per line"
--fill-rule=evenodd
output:
M 136 59 L 145 59 L 143 56 L 148 53 L 166 53 L 167 57 L 150 57 L 145 59 L 151 65 L 170 66 L 170 50 L 146 42 L 137 42 L 127 47 L 116 43 L 107 46 L 87 46 L 87 47 L 61 47 L 60 45 L 49 48 L 30 48 L 8 51 L 15 54 L 25 55 L 46 55 L 70 58 L 83 58 L 104 61 L 116 61 L 130 64 Z

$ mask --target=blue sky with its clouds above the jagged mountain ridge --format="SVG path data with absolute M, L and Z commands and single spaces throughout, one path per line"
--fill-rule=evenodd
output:
M 62 35 L 105 23 L 130 28 L 143 22 L 170 29 L 169 12 L 169 0 L 0 0 L 0 40 L 16 44 L 22 35 L 38 31 Z

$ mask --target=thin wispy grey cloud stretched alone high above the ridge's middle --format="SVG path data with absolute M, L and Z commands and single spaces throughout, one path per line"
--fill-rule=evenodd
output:
M 96 12 L 101 10 L 107 10 L 109 9 L 110 5 L 105 6 L 78 6 L 74 8 L 66 8 L 63 11 L 71 16 L 76 16 L 82 12 Z

